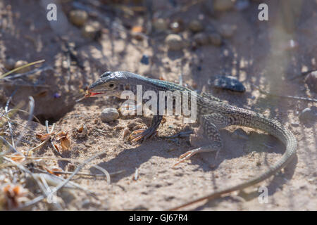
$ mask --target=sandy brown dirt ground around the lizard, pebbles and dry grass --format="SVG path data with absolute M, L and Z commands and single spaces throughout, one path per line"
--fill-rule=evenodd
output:
M 96 6 L 100 2 L 105 7 Z M 316 104 L 267 96 L 251 85 L 274 94 L 317 98 L 301 76 L 307 70 L 317 70 L 317 1 L 287 1 L 287 4 L 263 1 L 268 4 L 268 21 L 258 19 L 259 1 L 244 1 L 248 5 L 243 10 L 236 3 L 223 11 L 211 11 L 211 1 L 163 0 L 153 1 L 151 5 L 147 4 L 151 1 L 122 2 L 56 1 L 58 18 L 49 22 L 46 19 L 48 3 L 44 0 L 0 1 L 0 74 L 8 71 L 5 69 L 8 57 L 29 63 L 44 59 L 43 65 L 47 68 L 14 79 L 13 83 L 1 82 L 2 113 L 11 95 L 9 108 L 22 103 L 24 110 L 29 110 L 27 96 L 33 96 L 34 115 L 41 123 L 35 120 L 27 123 L 25 113 L 16 113 L 13 120 L 42 134 L 46 133 L 44 121 L 49 120 L 50 127 L 56 123 L 56 134 L 68 131 L 71 141 L 70 150 L 60 149 L 61 155 L 47 142 L 32 156 L 46 158 L 46 167 L 73 172 L 81 162 L 104 151 L 104 155 L 89 162 L 80 172 L 100 174 L 92 165 L 110 174 L 123 171 L 112 175 L 110 184 L 105 177 L 74 176 L 72 181 L 88 188 L 97 197 L 92 198 L 87 191 L 70 189 L 58 193 L 61 206 L 57 209 L 168 210 L 245 181 L 273 165 L 284 153 L 285 147 L 273 136 L 245 127 L 228 127 L 220 131 L 224 148 L 216 160 L 215 153 L 201 153 L 172 168 L 178 157 L 193 147 L 188 137 L 170 139 L 166 136 L 192 130 L 196 124 L 184 124 L 182 117 L 166 117 L 156 136 L 144 143 L 132 143 L 124 138 L 125 129 L 147 127 L 150 117 L 120 115 L 113 122 L 102 122 L 101 111 L 108 107 L 120 108 L 120 99 L 85 98 L 75 102 L 83 96 L 85 87 L 103 72 L 125 70 L 176 83 L 182 75 L 184 85 L 210 92 L 232 105 L 274 117 L 297 138 L 297 157 L 282 172 L 244 192 L 197 203 L 185 210 L 317 210 L 316 121 L 306 124 L 299 121 L 302 110 Z M 85 23 L 98 21 L 101 25 L 95 39 L 83 37 L 82 28 L 70 23 L 70 11 L 80 6 L 87 7 Z M 153 24 L 158 18 L 168 24 L 180 21 L 182 30 L 178 34 L 184 41 L 182 49 L 168 50 L 164 40 L 175 31 L 168 27 L 161 32 L 155 30 Z M 199 45 L 195 44 L 195 34 L 189 29 L 193 20 L 199 20 L 201 33 L 209 30 L 221 33 L 226 25 L 236 29 L 232 34 L 221 33 L 219 46 Z M 143 28 L 141 35 L 131 32 L 137 29 L 135 27 Z M 65 51 L 67 44 L 75 44 L 77 53 L 74 57 L 77 63 L 70 57 L 73 61 L 70 67 L 67 65 L 70 51 Z M 141 63 L 143 55 L 149 57 L 148 64 Z M 238 93 L 213 88 L 208 81 L 216 75 L 237 77 L 246 91 Z M 83 124 L 87 127 L 87 135 L 81 138 L 76 129 Z M 244 138 L 236 135 L 236 129 L 246 132 Z M 7 123 L 0 131 L 11 141 Z M 13 124 L 14 139 L 20 134 L 24 134 L 24 141 L 17 146 L 21 151 L 41 143 L 32 131 Z M 56 137 L 52 140 L 59 145 Z M 3 146 L 2 151 L 5 149 Z M 61 157 L 70 160 L 58 160 Z M 32 169 L 38 167 L 39 160 L 25 161 L 23 165 Z M 36 185 L 28 184 L 26 175 L 16 167 L 0 169 L 1 187 L 21 184 L 31 192 L 27 195 L 29 200 L 41 194 Z M 259 186 L 268 188 L 268 203 L 259 203 Z M 56 207 L 44 200 L 26 209 L 56 210 Z

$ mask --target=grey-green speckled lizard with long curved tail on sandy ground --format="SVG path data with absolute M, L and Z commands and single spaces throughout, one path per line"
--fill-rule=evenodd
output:
M 268 177 L 273 176 L 279 172 L 280 169 L 285 167 L 292 158 L 294 158 L 294 155 L 296 155 L 297 139 L 294 137 L 292 132 L 278 122 L 278 120 L 265 117 L 261 113 L 256 113 L 251 110 L 230 105 L 211 94 L 197 94 L 197 91 L 192 91 L 185 86 L 181 86 L 173 82 L 142 77 L 141 75 L 137 75 L 132 72 L 108 71 L 104 72 L 104 74 L 101 75 L 96 82 L 89 86 L 87 96 L 106 95 L 120 98 L 122 91 L 126 90 L 132 91 L 132 93 L 136 95 L 137 85 L 142 85 L 143 92 L 151 90 L 155 91 L 156 94 L 159 94 L 159 91 L 180 91 L 181 94 L 187 92 L 189 96 L 192 95 L 196 97 L 197 122 L 199 123 L 199 129 L 202 130 L 204 136 L 206 136 L 210 142 L 204 146 L 194 148 L 193 150 L 189 150 L 187 153 L 180 155 L 180 159 L 175 165 L 178 165 L 180 162 L 191 158 L 192 155 L 201 152 L 216 151 L 217 155 L 219 150 L 223 148 L 223 141 L 221 140 L 219 129 L 223 129 L 230 125 L 260 129 L 275 136 L 286 146 L 285 153 L 283 153 L 282 157 L 275 162 L 274 165 L 271 165 L 271 167 L 269 167 L 266 171 L 258 174 L 254 178 L 229 188 L 220 189 L 219 191 L 205 195 L 196 200 L 192 200 L 189 203 L 174 207 L 170 210 L 178 210 L 181 207 L 198 203 L 202 200 L 219 198 L 221 195 L 231 193 L 232 191 L 242 191 L 248 186 L 253 186 L 254 184 L 258 184 L 259 182 L 268 179 Z M 191 98 L 188 99 L 188 101 L 191 100 Z M 149 128 L 139 129 L 131 133 L 133 140 L 144 141 L 156 133 L 156 129 L 158 129 L 162 118 L 162 115 L 154 115 Z M 195 136 L 197 137 L 197 132 L 191 134 L 190 138 L 194 139 Z

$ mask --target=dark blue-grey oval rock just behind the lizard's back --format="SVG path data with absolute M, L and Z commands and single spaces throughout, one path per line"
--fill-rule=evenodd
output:
M 245 87 L 241 82 L 237 80 L 237 78 L 232 76 L 217 76 L 213 81 L 213 86 L 219 89 L 228 89 L 231 91 L 244 92 Z

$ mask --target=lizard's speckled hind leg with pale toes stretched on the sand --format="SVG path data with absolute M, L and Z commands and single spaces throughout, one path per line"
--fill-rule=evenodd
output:
M 197 153 L 216 151 L 217 158 L 219 151 L 223 148 L 223 141 L 220 138 L 220 133 L 218 129 L 228 126 L 227 118 L 223 115 L 220 115 L 219 113 L 212 113 L 208 115 L 202 115 L 199 118 L 199 123 L 201 124 L 201 127 L 199 127 L 199 130 L 196 130 L 194 134 L 190 136 L 190 142 L 194 146 L 197 145 L 197 143 L 194 142 L 195 140 L 197 140 L 197 138 L 201 139 L 199 138 L 199 136 L 201 136 L 201 134 L 199 134 L 199 131 L 201 131 L 202 128 L 202 132 L 204 136 L 208 138 L 209 143 L 199 148 L 189 150 L 187 153 L 180 155 L 179 161 L 175 163 L 173 167 L 180 164 L 180 162 L 188 160 Z

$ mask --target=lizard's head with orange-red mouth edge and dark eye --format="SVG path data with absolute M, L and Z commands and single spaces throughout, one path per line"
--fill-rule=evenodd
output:
M 89 86 L 89 96 L 116 96 L 120 97 L 122 91 L 127 90 L 128 77 L 125 72 L 104 72 L 94 84 Z

